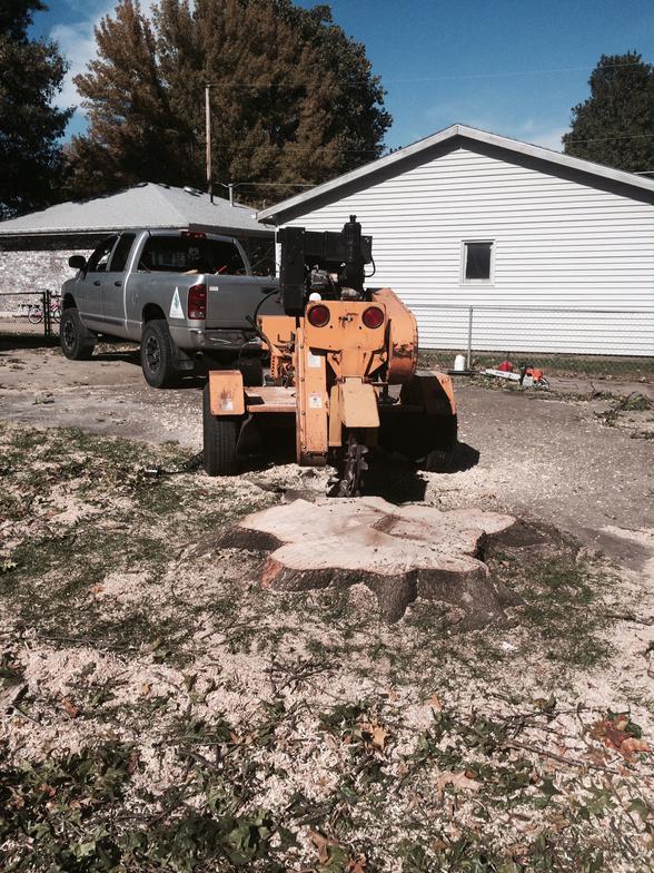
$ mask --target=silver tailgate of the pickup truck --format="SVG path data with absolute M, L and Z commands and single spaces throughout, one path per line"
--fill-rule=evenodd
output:
M 251 328 L 247 316 L 270 291 L 278 287 L 277 279 L 266 276 L 207 276 L 207 321 L 211 327 Z M 274 294 L 259 310 L 260 314 L 283 314 L 278 295 Z

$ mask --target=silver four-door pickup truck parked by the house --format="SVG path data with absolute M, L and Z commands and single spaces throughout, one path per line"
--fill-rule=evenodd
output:
M 139 342 L 149 385 L 204 365 L 261 384 L 256 315 L 281 313 L 277 281 L 252 276 L 237 239 L 197 230 L 130 229 L 105 239 L 61 288 L 61 350 L 88 360 L 98 336 Z

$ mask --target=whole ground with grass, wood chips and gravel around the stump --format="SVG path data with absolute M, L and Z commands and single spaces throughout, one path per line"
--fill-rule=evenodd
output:
M 515 606 L 469 631 L 216 547 L 328 473 L 184 471 L 199 381 L 0 347 L 0 866 L 651 871 L 654 393 L 552 382 L 458 379 L 455 471 L 371 478 L 521 519 L 484 552 Z

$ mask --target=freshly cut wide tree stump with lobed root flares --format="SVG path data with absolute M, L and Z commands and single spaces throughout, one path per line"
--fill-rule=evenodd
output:
M 268 551 L 261 583 L 274 590 L 363 582 L 390 621 L 419 597 L 449 604 L 465 626 L 480 627 L 518 602 L 482 560 L 485 542 L 514 523 L 497 512 L 396 507 L 377 497 L 296 500 L 247 516 L 221 545 Z

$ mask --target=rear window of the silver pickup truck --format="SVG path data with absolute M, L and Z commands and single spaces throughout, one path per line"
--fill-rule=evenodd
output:
M 224 239 L 151 236 L 145 245 L 139 269 L 165 273 L 244 274 L 240 252 Z

